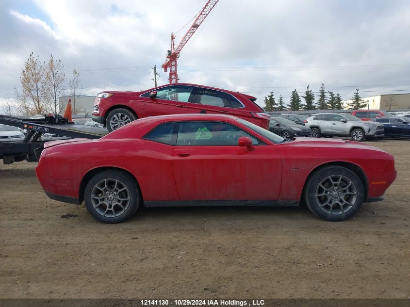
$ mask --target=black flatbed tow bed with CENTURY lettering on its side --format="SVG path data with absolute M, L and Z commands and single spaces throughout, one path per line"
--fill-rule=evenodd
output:
M 0 159 L 3 159 L 4 164 L 23 160 L 38 161 L 45 143 L 38 140 L 44 133 L 85 139 L 99 139 L 108 134 L 108 130 L 105 128 L 68 123 L 68 119 L 58 115 L 35 119 L 0 115 L 0 124 L 27 130 L 27 134 L 21 142 L 0 142 Z

